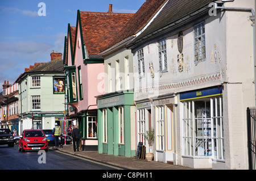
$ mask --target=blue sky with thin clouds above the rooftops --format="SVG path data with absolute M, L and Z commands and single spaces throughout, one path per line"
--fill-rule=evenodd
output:
M 0 92 L 25 68 L 63 53 L 68 23 L 76 26 L 77 10 L 135 13 L 146 0 L 0 0 Z

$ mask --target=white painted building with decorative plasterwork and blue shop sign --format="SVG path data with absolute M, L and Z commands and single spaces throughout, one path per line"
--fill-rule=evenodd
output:
M 137 121 L 155 128 L 155 161 L 248 169 L 255 2 L 212 2 L 167 1 L 129 44 Z

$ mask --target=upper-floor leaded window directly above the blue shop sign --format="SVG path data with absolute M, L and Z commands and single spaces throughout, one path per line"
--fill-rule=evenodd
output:
M 195 62 L 206 60 L 205 48 L 205 23 L 201 22 L 194 26 Z

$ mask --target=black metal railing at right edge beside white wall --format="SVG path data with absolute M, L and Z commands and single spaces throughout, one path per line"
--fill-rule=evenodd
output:
M 247 134 L 249 169 L 256 170 L 256 110 L 247 107 Z

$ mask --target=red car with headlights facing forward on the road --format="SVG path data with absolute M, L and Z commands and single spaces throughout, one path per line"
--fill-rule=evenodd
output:
M 47 136 L 42 129 L 26 129 L 19 137 L 19 151 L 48 150 Z

